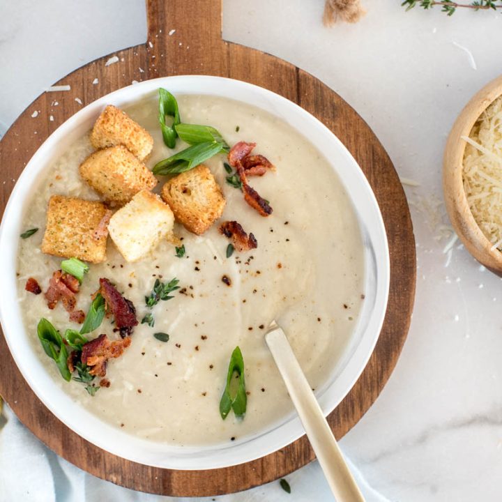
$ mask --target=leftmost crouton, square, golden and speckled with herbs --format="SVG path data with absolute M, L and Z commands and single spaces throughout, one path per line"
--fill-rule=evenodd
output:
M 107 232 L 98 235 L 95 231 L 107 211 L 99 201 L 53 195 L 47 208 L 42 252 L 91 263 L 105 261 Z

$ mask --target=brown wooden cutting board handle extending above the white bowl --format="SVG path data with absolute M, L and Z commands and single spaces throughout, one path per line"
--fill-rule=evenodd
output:
M 195 73 L 213 73 L 208 60 L 213 63 L 225 54 L 222 0 L 146 0 L 146 17 L 146 50 L 153 73 L 159 73 L 155 59 L 161 58 L 167 59 L 167 74 L 194 73 L 194 68 L 198 70 Z

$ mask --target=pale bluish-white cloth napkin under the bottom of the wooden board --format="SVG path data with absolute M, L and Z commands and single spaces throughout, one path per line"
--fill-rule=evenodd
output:
M 367 502 L 390 502 L 367 485 L 351 462 Z M 0 416 L 0 502 L 284 502 L 332 501 L 333 496 L 317 462 L 287 476 L 291 495 L 279 482 L 241 492 L 204 499 L 149 495 L 119 487 L 78 469 L 58 457 L 29 432 L 3 405 Z

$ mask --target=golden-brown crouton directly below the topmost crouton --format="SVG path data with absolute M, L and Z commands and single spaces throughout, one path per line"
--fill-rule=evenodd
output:
M 80 175 L 106 201 L 123 206 L 137 192 L 151 190 L 157 178 L 125 146 L 112 146 L 89 155 Z

